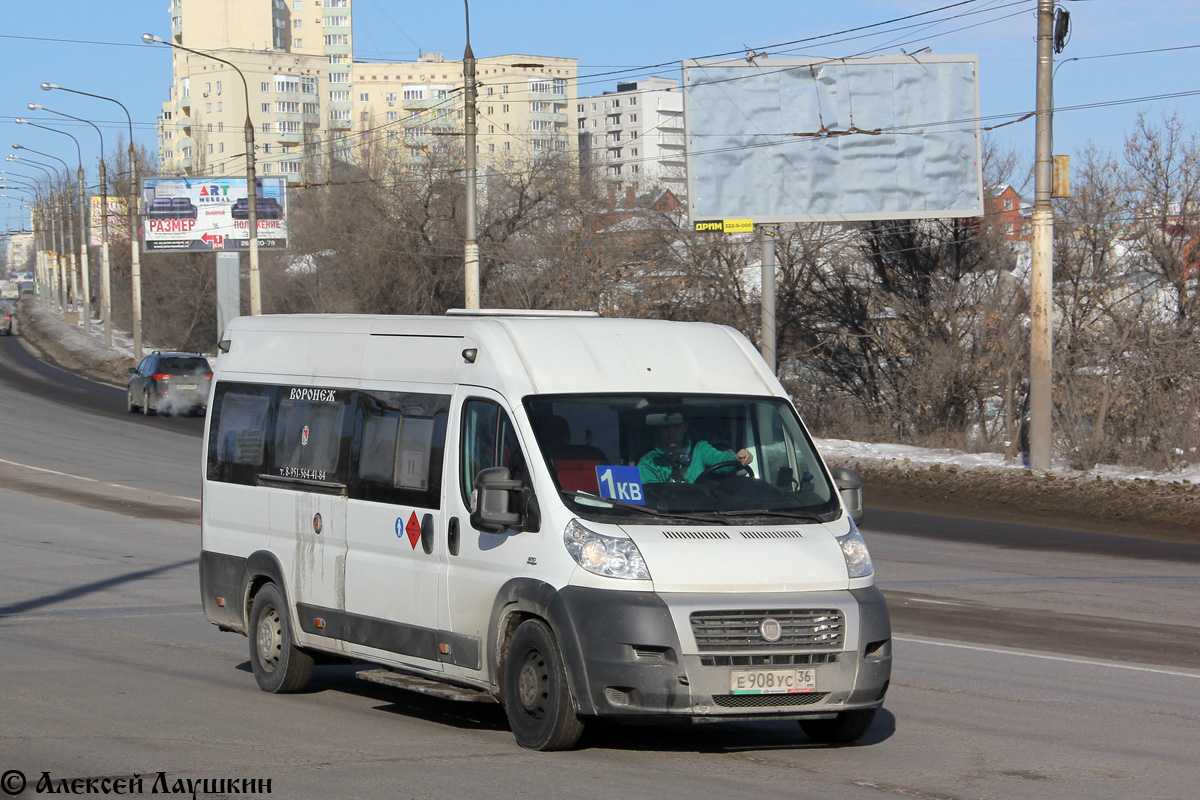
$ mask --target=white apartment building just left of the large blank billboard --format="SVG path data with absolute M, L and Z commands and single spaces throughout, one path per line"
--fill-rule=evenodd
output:
M 576 102 L 580 169 L 595 188 L 622 194 L 665 188 L 686 200 L 683 92 L 671 78 L 618 83 Z

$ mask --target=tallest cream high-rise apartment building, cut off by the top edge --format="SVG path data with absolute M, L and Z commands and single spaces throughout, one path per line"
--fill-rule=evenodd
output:
M 350 5 L 172 0 L 172 41 L 215 58 L 172 50 L 172 86 L 158 118 L 160 172 L 245 173 L 248 116 L 260 175 L 318 179 L 336 140 L 353 127 Z

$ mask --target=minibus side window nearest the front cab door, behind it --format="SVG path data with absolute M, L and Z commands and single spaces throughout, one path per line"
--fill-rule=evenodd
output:
M 359 392 L 349 495 L 439 507 L 449 408 L 439 395 Z

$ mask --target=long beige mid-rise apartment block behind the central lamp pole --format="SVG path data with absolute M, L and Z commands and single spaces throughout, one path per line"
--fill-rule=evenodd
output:
M 475 61 L 476 163 L 499 172 L 560 154 L 577 163 L 568 109 L 575 103 L 577 62 L 545 55 L 498 55 Z M 356 62 L 355 138 L 382 145 L 392 161 L 414 166 L 462 145 L 462 61 L 426 53 L 414 62 Z

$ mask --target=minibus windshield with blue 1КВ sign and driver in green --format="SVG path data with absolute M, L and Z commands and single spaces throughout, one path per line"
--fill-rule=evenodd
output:
M 775 397 L 526 398 L 556 485 L 587 519 L 661 524 L 828 521 L 840 513 L 812 441 Z

